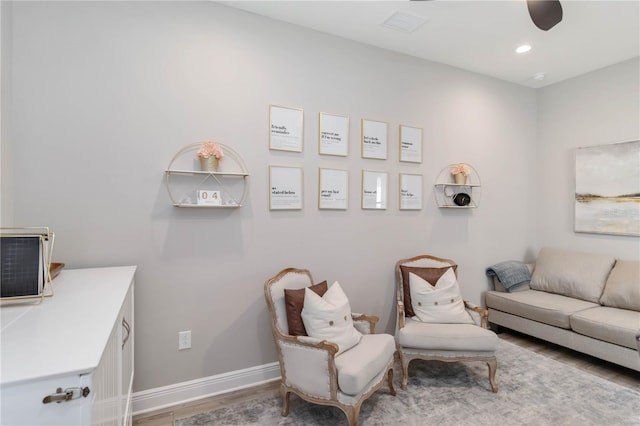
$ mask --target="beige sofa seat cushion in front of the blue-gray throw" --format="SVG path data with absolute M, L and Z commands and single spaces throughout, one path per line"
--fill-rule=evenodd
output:
M 600 306 L 597 303 L 538 290 L 516 293 L 488 291 L 486 303 L 491 309 L 566 329 L 571 328 L 569 317 L 572 314 Z

